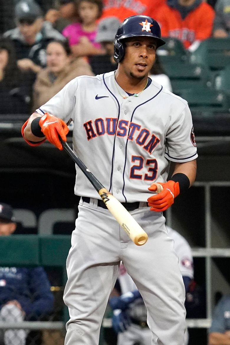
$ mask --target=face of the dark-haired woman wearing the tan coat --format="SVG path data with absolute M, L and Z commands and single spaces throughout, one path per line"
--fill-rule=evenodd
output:
M 46 48 L 47 53 L 47 66 L 54 74 L 60 73 L 70 62 L 69 57 L 58 42 L 51 42 Z

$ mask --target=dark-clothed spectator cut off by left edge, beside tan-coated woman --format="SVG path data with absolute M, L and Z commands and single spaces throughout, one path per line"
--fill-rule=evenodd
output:
M 0 114 L 30 112 L 32 84 L 29 73 L 17 66 L 12 43 L 0 38 Z

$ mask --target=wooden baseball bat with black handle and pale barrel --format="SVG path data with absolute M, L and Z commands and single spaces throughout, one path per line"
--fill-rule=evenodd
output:
M 92 174 L 92 172 L 84 165 L 80 158 L 73 152 L 66 141 L 61 140 L 63 149 L 70 155 L 77 166 L 81 169 L 83 174 L 88 178 L 93 187 L 97 190 L 104 204 L 126 231 L 131 240 L 137 245 L 142 246 L 148 240 L 148 235 L 137 223 L 137 221 L 131 216 L 126 208 L 118 201 Z M 158 185 L 162 187 L 161 185 Z M 159 193 L 159 192 L 158 192 Z

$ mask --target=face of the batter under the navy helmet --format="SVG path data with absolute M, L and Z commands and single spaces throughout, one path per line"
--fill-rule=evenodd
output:
M 156 48 L 156 40 L 152 37 L 128 39 L 124 59 L 120 62 L 124 73 L 136 79 L 146 78 L 155 60 Z

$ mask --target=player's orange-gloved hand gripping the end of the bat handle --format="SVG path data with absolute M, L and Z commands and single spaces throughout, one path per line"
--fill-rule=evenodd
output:
M 39 126 L 41 127 L 42 133 L 51 142 L 51 144 L 57 146 L 59 150 L 62 150 L 61 141 L 59 136 L 63 141 L 66 141 L 66 135 L 69 132 L 67 124 L 47 112 L 40 118 Z

